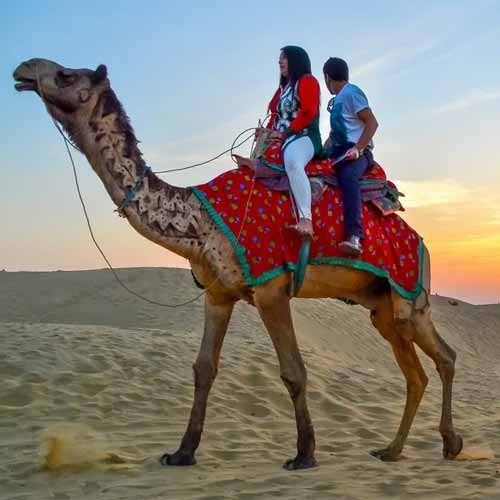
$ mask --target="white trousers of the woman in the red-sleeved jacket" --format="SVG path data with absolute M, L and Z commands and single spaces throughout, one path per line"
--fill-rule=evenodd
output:
M 305 168 L 313 156 L 314 147 L 307 136 L 293 140 L 285 147 L 283 154 L 285 170 L 299 210 L 299 217 L 304 219 L 312 219 L 311 184 L 309 184 Z

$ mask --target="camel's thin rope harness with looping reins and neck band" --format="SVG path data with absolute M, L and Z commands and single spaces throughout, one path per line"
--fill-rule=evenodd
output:
M 36 81 L 37 81 L 38 89 L 40 90 L 40 97 L 42 98 L 42 101 L 45 104 L 45 107 L 47 108 L 47 111 L 48 111 L 48 103 L 49 103 L 49 101 L 43 95 L 43 89 L 42 89 L 42 86 L 40 84 L 40 77 L 39 77 L 39 74 L 38 74 L 38 68 L 36 66 L 35 66 L 35 72 L 36 72 Z M 94 235 L 92 224 L 90 222 L 90 218 L 89 218 L 89 215 L 88 215 L 88 212 L 87 212 L 87 207 L 85 205 L 85 200 L 83 199 L 83 196 L 82 196 L 82 193 L 81 193 L 81 190 L 80 190 L 80 184 L 78 182 L 78 174 L 77 174 L 77 171 L 76 171 L 75 162 L 73 160 L 73 155 L 71 154 L 71 150 L 69 149 L 69 146 L 71 145 L 74 149 L 76 149 L 80 153 L 82 153 L 82 151 L 80 150 L 80 148 L 78 146 L 76 146 L 70 139 L 68 139 L 66 137 L 66 135 L 63 132 L 63 130 L 61 129 L 61 127 L 59 126 L 59 124 L 57 123 L 57 121 L 52 117 L 52 115 L 50 115 L 50 113 L 49 113 L 49 116 L 51 117 L 52 122 L 54 123 L 54 126 L 56 127 L 57 131 L 61 135 L 61 137 L 63 139 L 63 142 L 64 142 L 64 146 L 66 147 L 66 152 L 68 153 L 68 156 L 69 156 L 69 159 L 70 159 L 70 162 L 71 162 L 71 166 L 72 166 L 72 169 L 73 169 L 73 177 L 75 179 L 75 185 L 76 185 L 76 190 L 77 190 L 77 193 L 78 193 L 78 198 L 80 199 L 80 204 L 82 206 L 83 214 L 84 214 L 85 220 L 87 222 L 87 227 L 89 229 L 90 237 L 92 238 L 92 241 L 93 241 L 95 247 L 97 248 L 97 250 L 101 254 L 102 258 L 104 259 L 104 262 L 108 266 L 109 270 L 112 272 L 112 274 L 113 274 L 114 278 L 116 279 L 116 281 L 118 282 L 118 284 L 122 288 L 124 288 L 127 292 L 129 292 L 130 294 L 134 295 L 138 299 L 141 299 L 144 302 L 148 302 L 149 304 L 153 304 L 153 305 L 161 306 L 161 307 L 177 308 L 177 307 L 187 306 L 189 304 L 192 304 L 193 302 L 196 302 L 201 296 L 205 295 L 205 293 L 208 290 L 210 290 L 217 283 L 217 281 L 219 280 L 218 277 L 215 278 L 215 280 L 213 280 L 201 293 L 197 294 L 192 299 L 186 300 L 185 302 L 181 302 L 181 303 L 178 303 L 178 304 L 168 304 L 168 303 L 165 303 L 165 302 L 158 302 L 156 300 L 149 299 L 148 297 L 145 297 L 144 295 L 141 295 L 140 293 L 138 293 L 138 292 L 132 290 L 131 288 L 129 288 L 121 280 L 121 278 L 118 276 L 118 273 L 114 269 L 113 265 L 111 264 L 111 262 L 109 261 L 109 259 L 106 257 L 106 254 L 104 253 L 104 251 L 102 250 L 101 246 L 97 242 L 97 239 L 96 239 L 96 237 Z M 260 122 L 259 122 L 259 125 L 260 125 Z M 232 154 L 233 150 L 236 149 L 236 148 L 238 148 L 238 147 L 240 147 L 240 146 L 242 146 L 244 143 L 246 143 L 250 139 L 254 138 L 254 142 L 252 144 L 252 149 L 253 149 L 253 147 L 255 145 L 255 134 L 252 133 L 246 139 L 244 139 L 243 141 L 241 141 L 239 144 L 236 144 L 236 141 L 244 133 L 249 132 L 250 130 L 255 131 L 255 129 L 256 129 L 256 127 L 250 127 L 250 128 L 247 128 L 247 129 L 243 130 L 242 132 L 240 132 L 236 136 L 235 140 L 233 141 L 233 143 L 232 143 L 232 145 L 231 145 L 231 147 L 229 149 L 226 149 L 222 153 L 218 154 L 217 156 L 214 156 L 213 158 L 210 158 L 209 160 L 206 160 L 206 161 L 201 162 L 201 163 L 195 163 L 194 165 L 189 165 L 187 167 L 174 168 L 174 169 L 170 169 L 170 170 L 162 170 L 162 171 L 154 172 L 154 173 L 156 173 L 156 174 L 163 174 L 163 173 L 178 172 L 178 171 L 182 171 L 182 170 L 188 170 L 188 169 L 191 169 L 191 168 L 196 168 L 196 167 L 205 165 L 207 163 L 210 163 L 210 162 L 212 162 L 212 161 L 220 158 L 221 156 L 223 156 L 226 153 L 230 153 L 231 154 L 231 159 L 233 161 L 235 161 L 234 157 L 233 157 L 233 154 Z M 137 180 L 135 186 L 129 191 L 129 193 L 124 198 L 124 200 L 122 201 L 122 203 L 120 204 L 120 206 L 115 210 L 120 215 L 123 216 L 123 210 L 127 206 L 130 205 L 130 203 L 133 201 L 133 199 L 135 198 L 135 196 L 137 195 L 137 193 L 141 189 L 141 187 L 142 187 L 142 185 L 144 183 L 144 177 L 147 175 L 148 172 L 152 172 L 152 170 L 151 170 L 151 167 L 149 167 L 149 166 L 146 165 L 145 168 L 144 168 L 144 172 L 141 174 L 141 176 Z M 241 227 L 240 227 L 240 230 L 239 230 L 239 233 L 238 233 L 238 237 L 237 237 L 238 241 L 240 239 L 240 236 L 241 236 L 241 233 L 243 231 L 243 227 L 245 225 L 245 221 L 246 221 L 246 218 L 247 218 L 247 215 L 248 215 L 248 209 L 249 209 L 250 199 L 252 198 L 254 187 L 255 187 L 255 177 L 254 177 L 254 179 L 252 181 L 252 187 L 250 189 L 250 192 L 249 192 L 249 195 L 248 195 L 248 199 L 247 199 L 247 203 L 246 203 L 246 206 L 245 206 L 245 213 L 244 213 L 244 216 L 243 216 L 243 219 L 242 219 L 242 222 L 241 222 Z

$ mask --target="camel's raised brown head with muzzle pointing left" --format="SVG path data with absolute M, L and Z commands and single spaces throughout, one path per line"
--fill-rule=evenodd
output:
M 49 114 L 67 129 L 92 115 L 101 94 L 109 90 L 106 66 L 69 69 L 47 59 L 30 59 L 14 71 L 18 91 L 35 91 Z

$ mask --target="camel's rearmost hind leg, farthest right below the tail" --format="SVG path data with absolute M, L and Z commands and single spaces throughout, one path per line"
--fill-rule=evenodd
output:
M 455 433 L 452 417 L 452 386 L 455 375 L 455 351 L 440 337 L 427 305 L 415 311 L 411 318 L 415 329 L 414 341 L 435 363 L 443 384 L 443 401 L 439 432 L 443 438 L 443 457 L 455 458 L 462 450 L 462 438 Z

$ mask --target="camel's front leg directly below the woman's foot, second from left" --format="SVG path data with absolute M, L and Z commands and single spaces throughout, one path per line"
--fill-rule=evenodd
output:
M 287 470 L 307 469 L 316 465 L 314 428 L 306 401 L 307 373 L 297 345 L 285 290 L 256 294 L 256 305 L 278 355 L 280 375 L 295 408 L 297 422 L 297 456 L 287 460 Z

